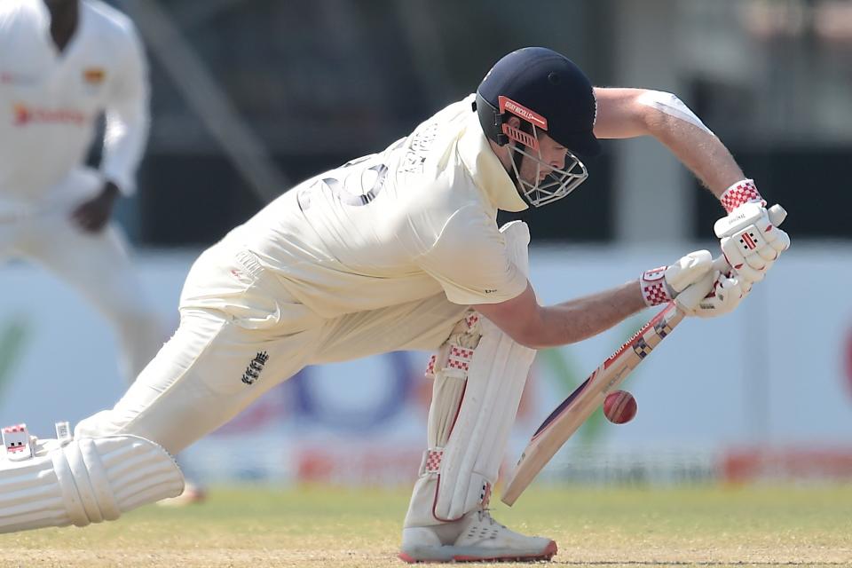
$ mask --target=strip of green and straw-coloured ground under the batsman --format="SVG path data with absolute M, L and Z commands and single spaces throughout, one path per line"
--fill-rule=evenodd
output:
M 402 566 L 406 504 L 403 490 L 217 487 L 185 509 L 0 535 L 0 566 Z M 852 565 L 848 485 L 538 488 L 494 517 L 555 539 L 553 564 Z

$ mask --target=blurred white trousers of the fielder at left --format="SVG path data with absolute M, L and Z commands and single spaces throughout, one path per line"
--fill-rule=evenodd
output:
M 7 217 L 0 208 L 0 260 L 20 257 L 41 264 L 75 288 L 113 328 L 122 375 L 130 383 L 162 347 L 169 329 L 146 301 L 117 227 L 108 224 L 99 233 L 88 233 L 71 219 L 87 193 L 80 185 L 93 181 L 99 183 L 91 170 L 74 170 L 55 188 L 62 194 L 50 205 Z

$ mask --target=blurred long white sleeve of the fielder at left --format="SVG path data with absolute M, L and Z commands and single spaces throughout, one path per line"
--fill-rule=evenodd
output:
M 142 43 L 128 22 L 122 45 L 116 50 L 116 76 L 106 105 L 104 158 L 100 170 L 122 193 L 136 191 L 136 170 L 148 136 L 149 87 Z

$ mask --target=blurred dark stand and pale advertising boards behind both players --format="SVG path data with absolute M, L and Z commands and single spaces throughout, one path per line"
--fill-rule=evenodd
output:
M 118 217 L 177 322 L 200 251 L 296 182 L 406 136 L 527 45 L 597 85 L 672 91 L 722 138 L 793 248 L 738 312 L 689 321 L 625 383 L 635 421 L 598 413 L 551 480 L 852 478 L 852 3 L 834 0 L 124 0 L 146 43 L 153 127 Z M 99 159 L 98 149 L 92 161 Z M 604 142 L 570 198 L 523 214 L 533 283 L 556 302 L 714 247 L 722 209 L 654 140 Z M 504 220 L 508 220 L 507 219 Z M 42 435 L 120 396 L 106 325 L 28 264 L 0 268 L 0 414 Z M 542 351 L 508 464 L 650 313 Z M 67 335 L 68 328 L 81 330 Z M 407 483 L 425 444 L 427 354 L 309 368 L 193 446 L 209 480 Z M 36 390 L 50 396 L 33 399 Z M 70 412 L 69 412 L 70 410 Z M 35 414 L 35 415 L 34 415 Z M 237 443 L 237 442 L 250 442 Z M 262 451 L 264 447 L 267 450 Z

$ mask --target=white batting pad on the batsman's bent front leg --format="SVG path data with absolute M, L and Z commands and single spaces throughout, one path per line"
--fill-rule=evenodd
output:
M 526 224 L 504 225 L 509 257 L 529 274 Z M 481 334 L 467 368 L 467 382 L 449 439 L 440 458 L 432 515 L 452 520 L 486 506 L 515 422 L 517 406 L 536 351 L 516 343 L 481 316 Z M 456 409 L 451 406 L 451 412 Z

